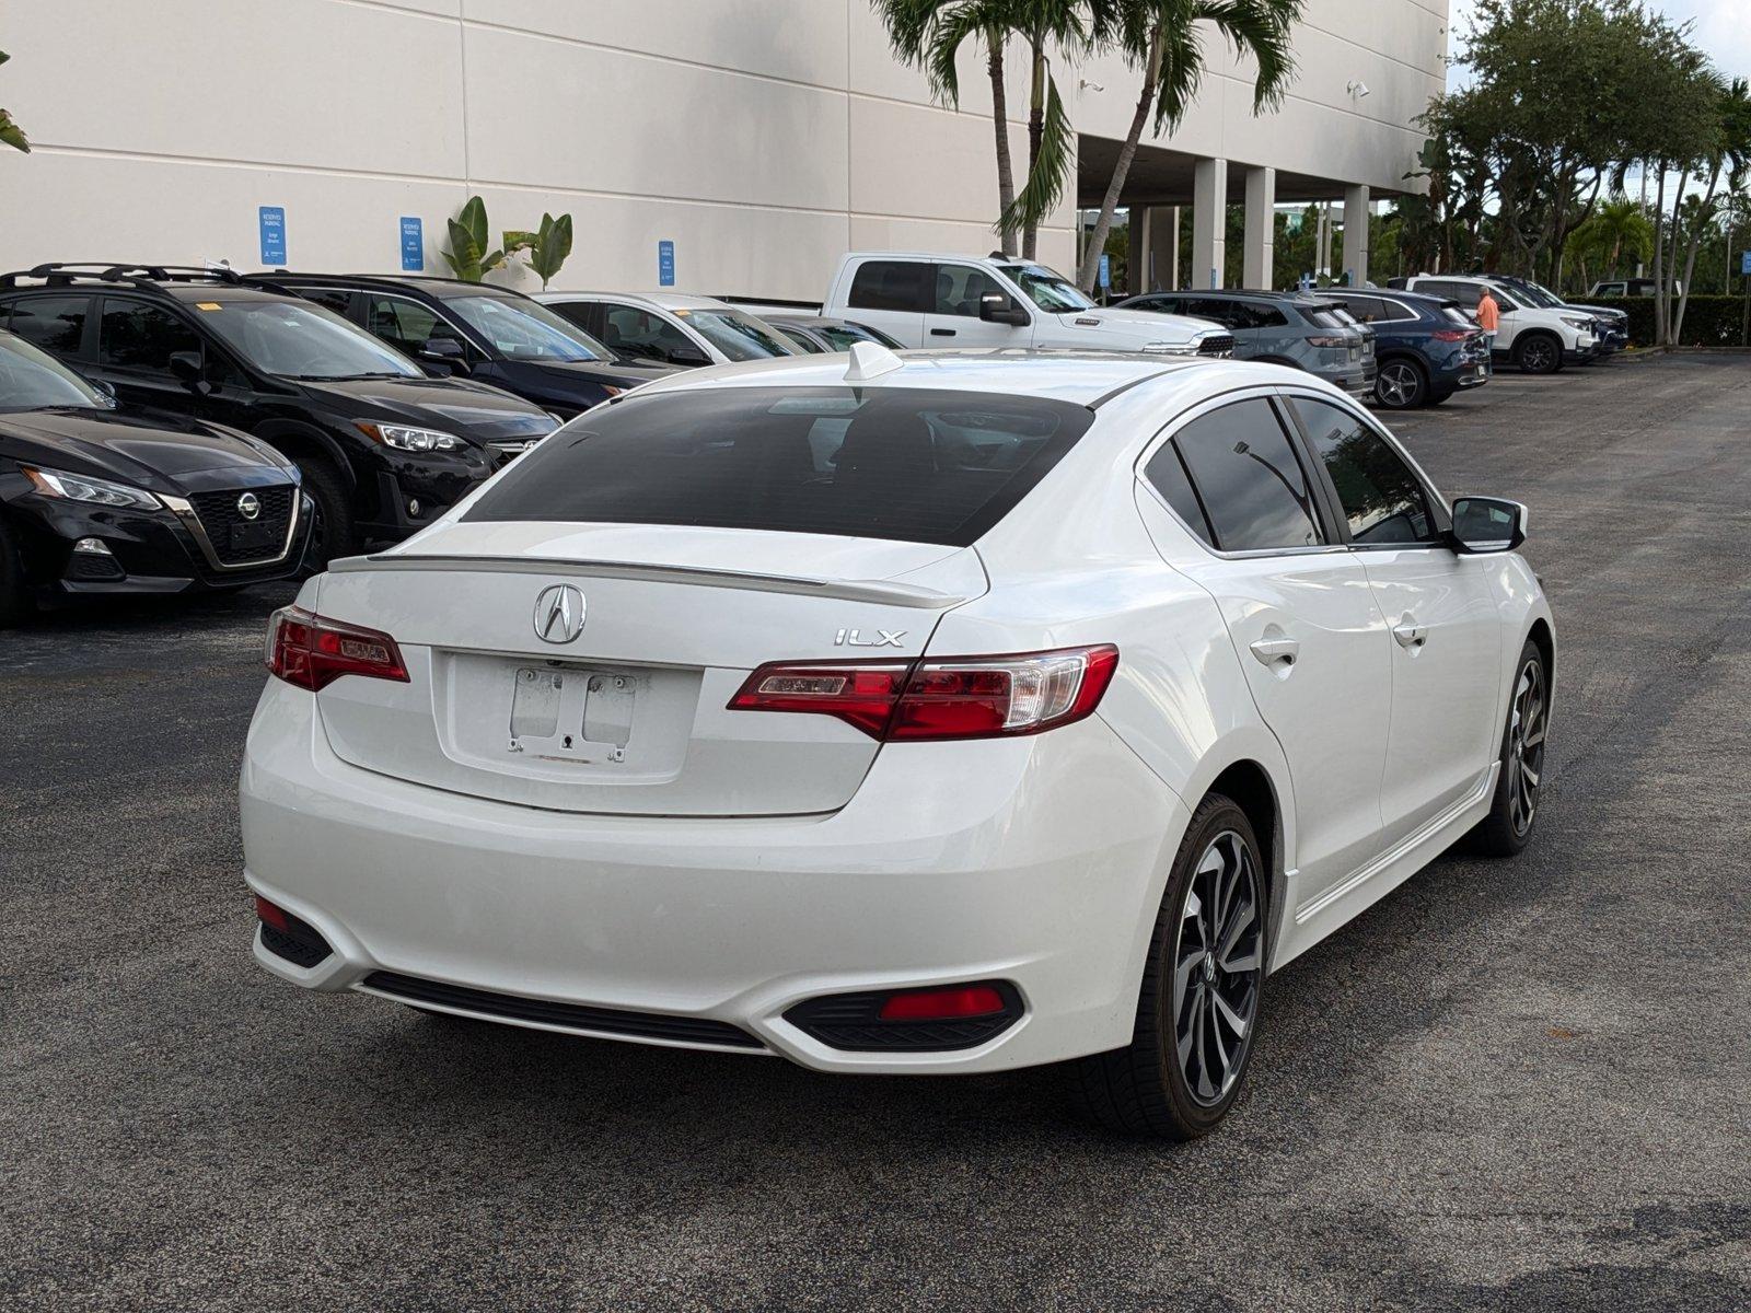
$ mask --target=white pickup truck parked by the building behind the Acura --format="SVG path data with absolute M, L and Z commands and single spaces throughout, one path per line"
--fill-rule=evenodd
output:
M 1229 355 L 1206 319 L 1107 310 L 1031 261 L 1002 256 L 851 252 L 821 313 L 877 327 L 907 347 L 1070 347 L 1154 355 Z

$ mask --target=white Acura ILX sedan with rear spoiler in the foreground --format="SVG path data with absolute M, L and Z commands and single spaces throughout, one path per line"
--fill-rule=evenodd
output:
M 1201 1134 L 1269 972 L 1527 842 L 1523 527 L 1276 366 L 678 375 L 273 616 L 256 958 L 823 1071 L 1080 1059 L 1112 1126 Z

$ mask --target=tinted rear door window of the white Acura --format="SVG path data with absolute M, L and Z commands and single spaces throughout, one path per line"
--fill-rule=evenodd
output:
M 1175 436 L 1198 499 L 1224 551 L 1268 551 L 1322 541 L 1313 495 L 1268 401 L 1236 401 Z

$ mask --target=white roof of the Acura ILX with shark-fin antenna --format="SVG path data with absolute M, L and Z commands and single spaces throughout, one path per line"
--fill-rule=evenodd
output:
M 1240 378 L 1234 385 L 1282 382 L 1269 366 L 1234 361 L 1185 357 L 1150 359 L 1133 352 L 1031 350 L 995 347 L 991 350 L 909 350 L 895 352 L 898 369 L 860 380 L 856 387 L 921 387 L 946 392 L 1002 392 L 1007 396 L 1049 397 L 1079 406 L 1101 401 L 1131 387 L 1168 375 L 1208 376 L 1222 368 L 1259 378 Z M 695 392 L 714 387 L 847 387 L 844 355 L 786 355 L 709 369 L 688 369 L 644 383 L 611 404 L 662 392 Z

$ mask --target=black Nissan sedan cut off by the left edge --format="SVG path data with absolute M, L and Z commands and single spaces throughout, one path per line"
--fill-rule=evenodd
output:
M 116 411 L 0 333 L 0 627 L 89 593 L 182 593 L 298 572 L 298 466 L 184 415 Z

